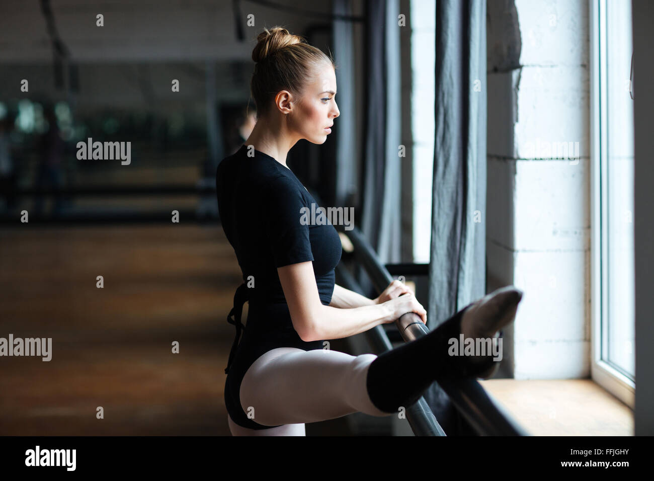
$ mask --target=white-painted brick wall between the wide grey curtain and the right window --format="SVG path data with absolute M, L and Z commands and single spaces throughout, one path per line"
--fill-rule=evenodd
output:
M 488 288 L 513 284 L 525 291 L 505 332 L 513 346 L 505 358 L 517 379 L 586 377 L 588 5 L 506 0 L 489 1 L 487 9 Z M 564 143 L 578 158 L 557 158 Z

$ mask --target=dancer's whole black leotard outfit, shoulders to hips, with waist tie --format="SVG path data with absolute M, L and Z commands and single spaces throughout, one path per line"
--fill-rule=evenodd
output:
M 323 347 L 322 341 L 304 342 L 293 329 L 277 268 L 313 261 L 320 302 L 326 306 L 334 293 L 341 241 L 332 224 L 311 224 L 311 204 L 317 209 L 317 202 L 290 169 L 263 152 L 243 145 L 224 158 L 216 171 L 216 192 L 222 228 L 243 273 L 243 284 L 237 289 L 229 316 L 235 320 L 228 317 L 237 325 L 237 337 L 225 370 L 225 406 L 238 425 L 268 429 L 272 426 L 254 422 L 241 406 L 239 389 L 247 369 L 275 347 L 305 351 Z M 308 209 L 305 217 L 302 207 Z M 237 346 L 246 299 L 247 326 Z

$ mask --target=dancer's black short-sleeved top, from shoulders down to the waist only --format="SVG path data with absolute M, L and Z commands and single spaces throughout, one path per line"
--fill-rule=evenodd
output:
M 341 241 L 332 224 L 312 221 L 320 206 L 290 169 L 243 145 L 218 165 L 216 192 L 222 228 L 243 281 L 254 283 L 255 302 L 286 302 L 277 268 L 307 261 L 320 302 L 331 302 Z

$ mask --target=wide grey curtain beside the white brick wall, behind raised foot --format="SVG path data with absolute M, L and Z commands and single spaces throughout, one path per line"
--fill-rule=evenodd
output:
M 430 329 L 485 295 L 486 0 L 436 3 L 435 109 Z M 425 399 L 445 433 L 468 434 L 438 383 Z

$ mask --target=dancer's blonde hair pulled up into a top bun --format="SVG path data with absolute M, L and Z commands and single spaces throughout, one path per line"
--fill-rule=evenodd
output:
M 313 67 L 327 62 L 336 69 L 331 57 L 283 27 L 264 28 L 256 40 L 252 50 L 255 65 L 250 94 L 257 116 L 266 115 L 271 100 L 281 90 L 300 95 Z

